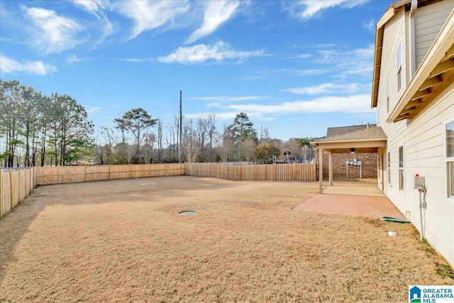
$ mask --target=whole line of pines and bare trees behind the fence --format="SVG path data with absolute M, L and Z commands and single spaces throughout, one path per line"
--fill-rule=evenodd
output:
M 267 128 L 258 132 L 245 113 L 218 129 L 216 114 L 182 119 L 167 125 L 142 108 L 114 119 L 114 127 L 87 119 L 87 111 L 67 95 L 50 97 L 0 79 L 0 160 L 4 167 L 127 164 L 162 162 L 227 162 L 314 157 L 309 138 L 281 141 Z M 179 137 L 182 137 L 181 145 Z

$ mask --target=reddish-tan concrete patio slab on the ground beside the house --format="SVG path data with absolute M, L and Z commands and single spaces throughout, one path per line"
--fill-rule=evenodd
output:
M 382 218 L 391 216 L 394 218 L 405 219 L 405 216 L 397 209 L 392 202 L 381 194 L 360 195 L 345 194 L 346 192 L 367 193 L 368 189 L 375 192 L 370 187 L 355 189 L 354 187 L 328 187 L 329 190 L 323 189 L 323 192 L 337 192 L 336 194 L 315 194 L 303 203 L 294 207 L 294 210 L 317 211 L 327 214 L 347 214 L 351 216 L 366 216 L 370 218 Z M 377 189 L 380 193 L 380 189 Z

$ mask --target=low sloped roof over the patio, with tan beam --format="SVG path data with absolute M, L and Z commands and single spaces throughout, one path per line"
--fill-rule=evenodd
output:
M 329 136 L 311 144 L 328 153 L 350 153 L 350 148 L 358 153 L 377 153 L 378 148 L 386 146 L 387 136 L 380 126 L 376 126 Z

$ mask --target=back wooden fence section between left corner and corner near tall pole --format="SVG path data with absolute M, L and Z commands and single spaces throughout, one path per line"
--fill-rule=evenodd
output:
M 184 175 L 183 163 L 35 167 L 38 185 Z

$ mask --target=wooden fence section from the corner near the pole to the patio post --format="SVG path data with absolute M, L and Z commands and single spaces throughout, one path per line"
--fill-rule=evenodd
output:
M 186 163 L 186 174 L 233 181 L 316 181 L 316 163 L 223 165 Z

